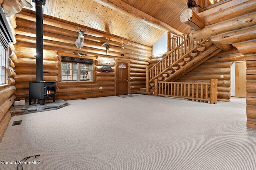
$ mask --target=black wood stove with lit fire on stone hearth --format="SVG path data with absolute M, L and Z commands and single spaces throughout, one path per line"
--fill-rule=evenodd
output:
M 46 98 L 52 98 L 55 102 L 56 84 L 55 82 L 29 82 L 29 104 L 32 99 L 40 99 L 40 105 L 43 105 Z

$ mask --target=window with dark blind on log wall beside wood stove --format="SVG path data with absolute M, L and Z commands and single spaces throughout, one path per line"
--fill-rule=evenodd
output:
M 61 56 L 62 82 L 93 82 L 93 59 Z

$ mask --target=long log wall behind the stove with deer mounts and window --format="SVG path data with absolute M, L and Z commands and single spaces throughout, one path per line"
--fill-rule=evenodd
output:
M 17 43 L 15 64 L 16 97 L 29 97 L 29 82 L 36 81 L 36 18 L 33 14 L 20 12 L 16 14 L 15 28 Z M 78 37 L 74 26 L 60 21 L 44 18 L 44 80 L 57 82 L 56 99 L 73 100 L 82 98 L 95 98 L 114 96 L 115 85 L 115 59 L 130 62 L 130 88 L 129 93 L 136 93 L 139 88 L 145 87 L 146 67 L 152 55 L 152 47 L 130 42 L 122 49 L 122 41 L 129 41 L 113 37 L 88 28 L 84 37 L 84 47 L 78 49 L 74 42 Z M 82 26 L 80 28 L 83 30 Z M 106 47 L 101 46 L 105 41 L 110 43 L 110 50 L 106 55 Z M 60 56 L 79 57 L 73 52 L 87 54 L 84 58 L 94 59 L 94 82 L 68 82 L 62 83 Z M 124 56 L 121 56 L 124 54 Z M 111 61 L 109 66 L 112 72 L 102 72 L 105 61 Z M 59 74 L 58 74 L 59 73 Z M 100 89 L 102 87 L 102 89 Z

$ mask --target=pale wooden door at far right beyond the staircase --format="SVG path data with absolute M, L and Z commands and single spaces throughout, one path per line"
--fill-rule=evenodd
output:
M 246 98 L 246 62 L 236 63 L 235 97 Z

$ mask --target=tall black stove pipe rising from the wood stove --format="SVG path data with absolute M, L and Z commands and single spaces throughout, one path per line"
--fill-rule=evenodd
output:
M 36 81 L 44 80 L 43 9 L 42 0 L 36 1 Z

